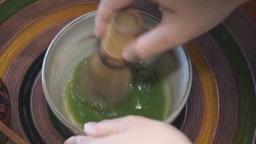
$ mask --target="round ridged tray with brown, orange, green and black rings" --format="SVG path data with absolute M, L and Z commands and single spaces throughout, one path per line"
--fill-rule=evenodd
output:
M 96 0 L 0 0 L 0 77 L 10 94 L 10 128 L 27 142 L 63 143 L 71 136 L 44 98 L 42 60 L 66 24 L 97 6 Z M 135 7 L 160 17 L 147 0 Z M 256 0 L 241 6 L 186 44 L 192 89 L 174 125 L 194 143 L 256 142 L 255 7 Z

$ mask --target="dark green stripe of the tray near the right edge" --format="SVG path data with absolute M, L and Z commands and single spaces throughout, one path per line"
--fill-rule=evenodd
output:
M 246 58 L 223 25 L 218 25 L 210 31 L 222 47 L 234 76 L 238 100 L 236 132 L 232 143 L 249 144 L 254 138 L 255 128 L 255 87 L 252 73 Z

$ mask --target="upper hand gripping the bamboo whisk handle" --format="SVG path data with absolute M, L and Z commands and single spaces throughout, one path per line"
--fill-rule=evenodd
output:
M 139 36 L 123 52 L 128 62 L 145 60 L 183 45 L 218 25 L 237 6 L 248 0 L 151 0 L 159 6 L 162 21 Z M 130 7 L 134 0 L 101 0 L 95 34 L 102 37 L 110 15 Z

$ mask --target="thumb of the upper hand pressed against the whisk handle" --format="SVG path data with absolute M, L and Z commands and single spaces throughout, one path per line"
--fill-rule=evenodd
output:
M 170 23 L 160 23 L 126 46 L 122 56 L 127 62 L 145 60 L 182 44 L 184 38 L 176 36 L 177 30 Z M 185 43 L 185 41 L 184 41 Z

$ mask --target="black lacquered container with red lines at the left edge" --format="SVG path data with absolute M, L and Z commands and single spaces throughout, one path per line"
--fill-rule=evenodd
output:
M 8 90 L 0 78 L 0 121 L 3 122 L 6 126 L 10 125 L 10 99 Z M 7 136 L 0 131 L 0 144 L 3 144 Z

